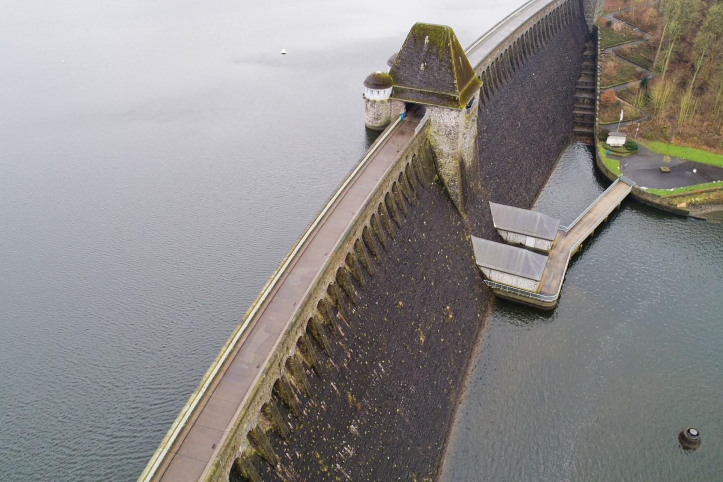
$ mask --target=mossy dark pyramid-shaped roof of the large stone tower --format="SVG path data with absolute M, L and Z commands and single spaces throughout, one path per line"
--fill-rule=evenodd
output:
M 446 25 L 414 24 L 389 74 L 392 98 L 432 106 L 464 108 L 482 85 Z

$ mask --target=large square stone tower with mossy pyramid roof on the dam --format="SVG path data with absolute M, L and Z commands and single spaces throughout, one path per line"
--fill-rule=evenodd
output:
M 437 172 L 458 210 L 464 212 L 479 182 L 477 106 L 482 82 L 453 30 L 446 25 L 415 24 L 389 75 L 393 100 L 427 109 Z

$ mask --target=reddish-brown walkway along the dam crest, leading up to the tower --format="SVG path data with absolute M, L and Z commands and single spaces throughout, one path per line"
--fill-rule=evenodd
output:
M 414 138 L 422 115 L 420 110 L 395 121 L 335 192 L 288 256 L 286 266 L 262 293 L 257 311 L 249 314 L 244 322 L 247 326 L 238 330 L 236 340 L 216 363 L 217 372 L 208 377 L 208 385 L 184 407 L 188 419 L 182 424 L 176 420 L 175 433 L 166 436 L 173 436 L 166 444 L 166 452 L 155 454 L 156 467 L 148 474 L 153 478 L 141 475 L 140 481 L 190 482 L 204 478 L 297 304 L 312 289 L 325 259 L 341 242 L 359 207 Z

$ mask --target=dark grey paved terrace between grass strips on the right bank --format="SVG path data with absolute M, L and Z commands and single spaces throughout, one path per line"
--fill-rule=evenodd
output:
M 612 155 L 612 152 L 610 154 Z M 661 165 L 670 168 L 670 172 L 660 172 Z M 670 158 L 670 162 L 666 163 L 662 154 L 651 152 L 643 146 L 638 147 L 638 154 L 622 158 L 620 169 L 638 186 L 655 189 L 674 189 L 723 180 L 721 167 L 681 158 Z

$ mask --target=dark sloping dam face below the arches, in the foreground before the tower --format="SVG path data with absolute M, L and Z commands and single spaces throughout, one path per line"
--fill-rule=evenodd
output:
M 321 376 L 309 372 L 301 416 L 275 400 L 294 426 L 288 441 L 270 436 L 281 477 L 254 461 L 263 481 L 422 481 L 440 464 L 489 293 L 444 189 L 432 176 L 414 182 L 407 215 L 372 240 L 379 262 L 352 282 L 355 302 L 339 293 L 337 328 L 322 327 L 330 356 L 318 357 Z

